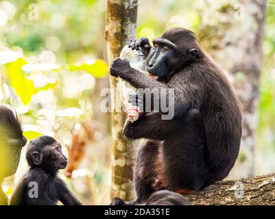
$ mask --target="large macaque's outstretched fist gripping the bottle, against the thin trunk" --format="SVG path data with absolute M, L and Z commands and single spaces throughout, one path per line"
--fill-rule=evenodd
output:
M 123 77 L 123 75 L 130 73 L 131 70 L 132 68 L 128 60 L 121 60 L 117 57 L 110 66 L 110 75 L 114 77 Z

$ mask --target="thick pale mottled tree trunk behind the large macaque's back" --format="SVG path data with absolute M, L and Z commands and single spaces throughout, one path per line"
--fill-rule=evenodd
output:
M 234 2 L 234 1 L 233 1 Z M 266 0 L 203 1 L 199 38 L 214 59 L 228 70 L 243 103 L 243 135 L 239 159 L 231 178 L 254 176 L 254 132 L 259 77 L 263 60 L 262 44 Z M 216 8 L 214 8 L 216 7 Z

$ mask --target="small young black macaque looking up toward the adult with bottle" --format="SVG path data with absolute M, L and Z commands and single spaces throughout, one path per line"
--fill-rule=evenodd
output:
M 29 170 L 16 186 L 10 205 L 82 205 L 57 176 L 67 166 L 67 157 L 54 138 L 40 136 L 29 142 L 26 153 Z

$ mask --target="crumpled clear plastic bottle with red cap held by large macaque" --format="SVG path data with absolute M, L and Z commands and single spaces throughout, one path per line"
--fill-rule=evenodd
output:
M 128 47 L 128 45 L 125 45 L 125 47 L 121 50 L 119 57 L 121 60 L 128 60 L 132 68 L 146 74 L 145 59 L 141 49 L 132 50 Z M 131 86 L 128 81 L 121 78 L 119 78 L 119 81 L 121 83 L 121 101 L 123 104 L 123 111 L 125 112 L 127 119 L 130 122 L 134 122 L 139 118 L 141 110 L 137 105 L 132 105 L 132 103 L 130 103 L 129 97 L 130 95 L 136 95 L 137 89 Z

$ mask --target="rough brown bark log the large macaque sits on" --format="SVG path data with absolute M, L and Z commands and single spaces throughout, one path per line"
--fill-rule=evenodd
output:
M 184 196 L 193 205 L 275 205 L 275 174 L 219 181 L 197 194 Z

